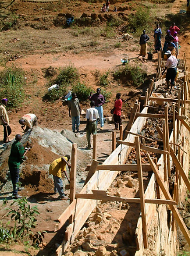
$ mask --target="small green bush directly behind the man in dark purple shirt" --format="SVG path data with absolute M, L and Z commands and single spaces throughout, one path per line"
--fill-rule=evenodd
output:
M 92 88 L 86 86 L 85 84 L 78 83 L 72 86 L 72 92 L 76 93 L 79 101 L 86 101 L 92 92 Z

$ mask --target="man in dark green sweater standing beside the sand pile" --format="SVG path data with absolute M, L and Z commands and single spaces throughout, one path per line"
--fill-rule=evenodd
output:
M 11 146 L 11 154 L 9 155 L 9 171 L 11 174 L 11 181 L 13 184 L 13 198 L 18 199 L 22 198 L 20 195 L 18 195 L 18 182 L 19 182 L 19 167 L 20 164 L 27 158 L 24 156 L 25 154 L 25 148 L 20 143 L 22 136 L 20 134 L 17 134 L 15 136 L 15 141 L 13 142 Z

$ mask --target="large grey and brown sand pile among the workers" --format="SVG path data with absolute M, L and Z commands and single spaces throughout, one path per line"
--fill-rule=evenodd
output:
M 66 137 L 62 134 L 65 134 Z M 20 182 L 27 190 L 31 190 L 31 193 L 52 191 L 53 180 L 49 175 L 49 164 L 63 155 L 71 155 L 72 143 L 77 143 L 77 146 L 80 146 L 77 150 L 76 180 L 77 190 L 80 191 L 82 188 L 86 176 L 84 170 L 86 165 L 91 162 L 92 153 L 85 150 L 85 137 L 78 137 L 68 130 L 62 131 L 62 134 L 37 126 L 23 135 L 22 144 L 24 146 L 32 145 L 32 148 L 27 152 L 28 159 L 20 166 Z M 7 182 L 10 181 L 8 158 L 12 143 L 13 141 L 7 144 L 0 155 L 0 182 L 4 190 L 6 190 Z

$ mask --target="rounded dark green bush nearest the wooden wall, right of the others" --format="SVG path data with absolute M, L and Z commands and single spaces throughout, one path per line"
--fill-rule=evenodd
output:
M 135 67 L 125 64 L 124 67 L 114 72 L 113 76 L 114 79 L 119 79 L 122 81 L 122 83 L 129 83 L 134 86 L 138 86 L 145 81 L 147 74 L 138 65 Z

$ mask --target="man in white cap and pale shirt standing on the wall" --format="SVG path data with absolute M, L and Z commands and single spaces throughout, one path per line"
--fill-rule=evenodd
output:
M 171 80 L 171 88 L 170 88 L 170 92 L 171 92 L 172 86 L 175 83 L 174 82 L 175 77 L 177 75 L 178 60 L 174 55 L 172 55 L 172 53 L 169 50 L 167 52 L 165 52 L 165 54 L 167 56 L 167 61 L 166 61 L 165 68 L 164 68 L 162 74 L 164 74 L 165 70 L 167 70 L 165 80 L 166 80 L 168 88 L 169 88 L 169 81 Z

